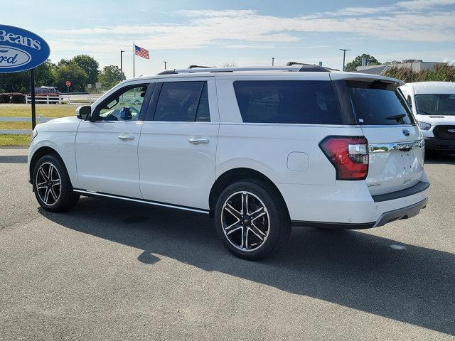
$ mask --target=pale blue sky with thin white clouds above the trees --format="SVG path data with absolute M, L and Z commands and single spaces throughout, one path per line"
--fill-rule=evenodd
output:
M 68 2 L 68 3 L 65 3 Z M 132 77 L 190 64 L 284 65 L 289 60 L 341 68 L 369 53 L 378 60 L 455 63 L 455 0 L 409 1 L 59 1 L 0 0 L 1 21 L 48 41 L 56 62 L 85 53 L 101 66 L 119 65 Z

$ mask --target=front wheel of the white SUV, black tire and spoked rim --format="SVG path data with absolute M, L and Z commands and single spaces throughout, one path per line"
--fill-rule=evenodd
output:
M 51 172 L 48 171 L 50 166 L 53 167 Z M 57 179 L 60 180 L 60 185 Z M 64 212 L 73 208 L 79 201 L 79 195 L 73 192 L 63 161 L 54 154 L 45 155 L 38 160 L 33 168 L 32 183 L 36 200 L 46 211 Z M 37 183 L 41 185 L 38 186 Z M 49 190 L 50 188 L 52 190 Z M 53 200 L 55 197 L 57 197 L 56 200 Z

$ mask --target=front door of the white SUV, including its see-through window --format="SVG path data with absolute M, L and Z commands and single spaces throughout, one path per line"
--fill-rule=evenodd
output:
M 141 197 L 137 147 L 141 112 L 153 85 L 124 85 L 92 108 L 75 141 L 77 178 L 82 190 Z M 149 91 L 149 92 L 148 92 Z

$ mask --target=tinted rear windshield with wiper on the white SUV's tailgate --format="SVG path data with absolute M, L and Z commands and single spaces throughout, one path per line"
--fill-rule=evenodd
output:
M 376 81 L 346 81 L 357 124 L 415 124 L 405 99 L 394 85 Z

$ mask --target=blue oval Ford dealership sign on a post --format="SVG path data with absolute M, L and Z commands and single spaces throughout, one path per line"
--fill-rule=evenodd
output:
M 48 43 L 22 28 L 0 25 L 0 73 L 21 72 L 49 58 Z

